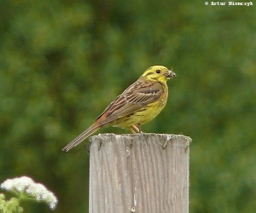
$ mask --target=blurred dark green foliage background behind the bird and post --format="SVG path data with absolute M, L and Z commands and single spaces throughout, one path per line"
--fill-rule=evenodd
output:
M 83 145 L 61 148 L 149 66 L 163 65 L 177 78 L 166 108 L 143 130 L 193 139 L 190 212 L 256 212 L 256 5 L 0 6 L 1 182 L 31 176 L 56 194 L 55 212 L 87 212 L 89 154 Z M 51 212 L 45 204 L 25 210 Z

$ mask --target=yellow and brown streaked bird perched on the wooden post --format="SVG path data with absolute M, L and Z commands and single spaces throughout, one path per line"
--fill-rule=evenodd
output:
M 62 151 L 67 152 L 102 127 L 116 126 L 131 130 L 132 133 L 142 132 L 141 125 L 155 118 L 166 106 L 166 81 L 175 76 L 165 66 L 149 67 L 135 83 L 108 105 L 94 124 Z

